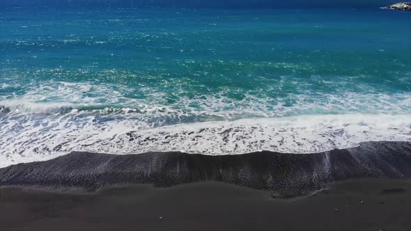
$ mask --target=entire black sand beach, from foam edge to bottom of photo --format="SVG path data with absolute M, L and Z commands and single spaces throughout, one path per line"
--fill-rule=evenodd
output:
M 0 169 L 1 230 L 410 230 L 411 143 L 73 152 Z

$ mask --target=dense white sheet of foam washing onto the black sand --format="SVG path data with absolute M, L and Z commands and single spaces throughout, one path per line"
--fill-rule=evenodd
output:
M 307 153 L 348 148 L 364 141 L 411 141 L 408 114 L 256 118 L 147 128 L 139 120 L 95 122 L 93 116 L 84 115 L 80 119 L 72 113 L 79 112 L 47 119 L 34 116 L 0 120 L 0 167 L 43 161 L 72 151 Z

